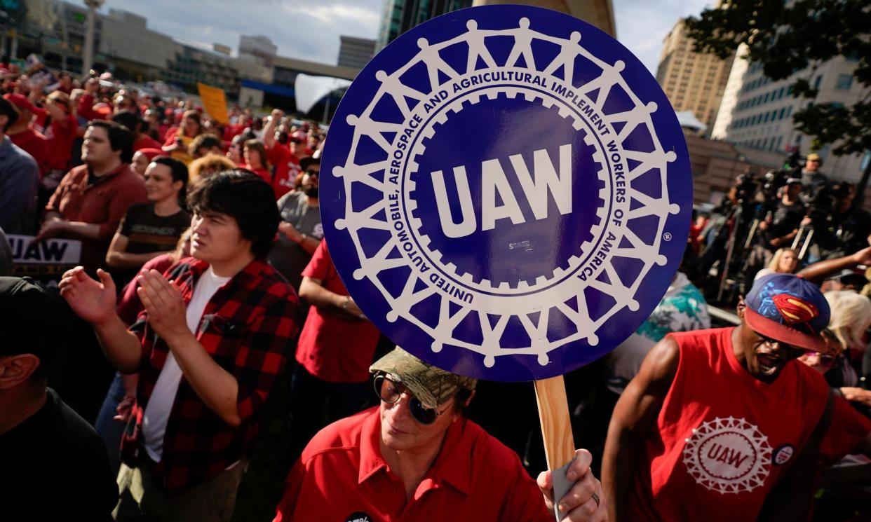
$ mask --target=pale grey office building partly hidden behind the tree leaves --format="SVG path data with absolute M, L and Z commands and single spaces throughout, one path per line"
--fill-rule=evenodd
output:
M 712 137 L 753 151 L 785 156 L 797 149 L 802 156 L 807 155 L 814 151 L 811 139 L 795 130 L 793 113 L 809 104 L 851 105 L 866 97 L 868 89 L 853 76 L 857 63 L 852 58 L 835 57 L 774 81 L 765 76 L 760 64 L 737 58 L 729 80 L 736 93 L 724 99 Z M 799 78 L 807 79 L 819 91 L 814 100 L 792 96 L 792 84 Z M 858 180 L 867 155 L 836 157 L 831 149 L 826 146 L 815 151 L 823 159 L 821 171 L 837 179 Z

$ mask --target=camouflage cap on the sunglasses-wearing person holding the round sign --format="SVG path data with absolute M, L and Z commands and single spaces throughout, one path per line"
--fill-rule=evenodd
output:
M 422 405 L 436 409 L 456 395 L 460 388 L 474 390 L 478 382 L 475 378 L 428 365 L 399 346 L 369 366 L 370 373 L 378 371 L 387 373 L 392 380 L 405 385 L 420 399 Z

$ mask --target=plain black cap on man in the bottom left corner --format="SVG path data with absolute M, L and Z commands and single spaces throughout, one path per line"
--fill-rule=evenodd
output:
M 0 310 L 0 355 L 32 353 L 49 365 L 69 344 L 69 305 L 30 278 L 0 278 Z

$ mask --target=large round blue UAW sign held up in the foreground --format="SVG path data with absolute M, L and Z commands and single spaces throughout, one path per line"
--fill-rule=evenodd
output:
M 490 380 L 619 345 L 672 281 L 691 211 L 656 80 L 601 30 L 534 7 L 459 10 L 390 43 L 321 164 L 327 244 L 362 311 L 419 358 Z

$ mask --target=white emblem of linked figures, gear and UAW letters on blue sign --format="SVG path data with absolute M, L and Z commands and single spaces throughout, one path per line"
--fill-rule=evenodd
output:
M 572 32 L 568 38 L 553 37 L 530 29 L 530 20 L 526 17 L 520 17 L 517 26 L 510 29 L 481 30 L 474 20 L 469 20 L 466 29 L 443 42 L 420 38 L 417 41 L 420 50 L 408 63 L 390 74 L 384 70 L 375 73 L 380 87 L 366 110 L 347 117 L 347 124 L 354 129 L 351 151 L 345 163 L 332 171 L 334 177 L 341 179 L 348 196 L 341 217 L 334 220 L 334 227 L 347 231 L 356 247 L 360 268 L 354 271 L 354 279 L 368 279 L 380 291 L 390 306 L 388 321 L 402 318 L 436 339 L 429 346 L 432 351 L 442 351 L 443 345 L 457 346 L 482 355 L 487 367 L 496 365 L 496 359 L 504 355 L 535 357 L 539 365 L 547 365 L 550 351 L 583 339 L 590 345 L 598 345 L 597 331 L 609 318 L 623 309 L 638 310 L 636 294 L 646 275 L 654 265 L 664 266 L 667 262 L 661 251 L 663 231 L 666 219 L 679 213 L 679 205 L 669 199 L 666 171 L 677 155 L 674 151 L 665 151 L 657 137 L 652 121 L 657 104 L 643 104 L 622 76 L 625 64 L 619 60 L 607 63 L 594 56 L 581 44 L 579 32 Z M 484 44 L 485 39 L 491 37 L 513 40 L 508 57 L 500 59 L 502 64 L 496 63 Z M 550 64 L 537 64 L 542 68 L 539 70 L 535 62 L 541 58 L 532 49 L 541 42 L 556 45 L 559 50 Z M 441 52 L 465 53 L 469 64 L 467 72 L 461 74 L 454 70 L 442 59 Z M 598 77 L 577 88 L 571 85 L 571 78 L 580 59 L 600 72 Z M 478 67 L 479 63 L 483 66 Z M 424 90 L 428 92 L 407 83 L 407 73 L 411 70 L 426 71 L 429 85 Z M 631 100 L 631 110 L 604 110 L 612 90 L 621 91 Z M 552 266 L 541 273 L 497 280 L 473 274 L 475 267 L 468 259 L 448 256 L 422 230 L 424 224 L 418 214 L 423 208 L 428 211 L 435 208 L 436 203 L 442 212 L 439 200 L 420 196 L 422 176 L 428 177 L 427 183 L 442 193 L 445 191 L 443 179 L 453 178 L 462 200 L 465 171 L 458 170 L 460 167 L 445 165 L 443 172 L 419 169 L 432 140 L 463 110 L 498 99 L 523 99 L 530 107 L 558 114 L 577 133 L 583 133 L 580 136 L 588 150 L 586 153 L 598 168 L 587 173 L 589 186 L 574 190 L 593 191 L 598 204 L 589 209 L 596 222 L 589 224 L 590 233 L 584 240 L 571 245 L 574 249 L 571 256 L 554 258 Z M 384 100 L 397 108 L 395 117 L 378 116 L 381 113 L 377 108 Z M 414 100 L 415 104 L 409 106 L 409 100 Z M 671 109 L 665 107 L 665 110 Z M 631 135 L 636 131 L 650 136 L 647 150 L 631 146 Z M 364 141 L 375 144 L 387 159 L 359 159 L 357 147 Z M 581 151 L 577 151 L 577 146 L 576 151 L 571 151 L 571 145 L 567 144 L 560 146 L 558 155 L 556 151 L 535 151 L 534 162 L 517 154 L 510 157 L 510 163 L 504 158 L 503 164 L 496 167 L 486 161 L 483 163 L 488 168 L 496 168 L 503 176 L 503 172 L 498 171 L 501 165 L 506 165 L 506 171 L 513 168 L 517 177 L 525 174 L 525 197 L 536 211 L 532 201 L 536 193 L 544 194 L 545 209 L 549 195 L 559 204 L 558 184 L 565 181 L 561 177 L 564 152 L 569 156 Z M 526 171 L 524 162 L 534 167 L 535 181 L 530 171 Z M 542 180 L 547 179 L 547 191 L 542 189 L 544 181 L 539 184 L 539 171 L 547 172 L 541 174 Z M 568 176 L 571 177 L 571 172 Z M 661 186 L 657 194 L 633 186 L 633 180 L 643 176 L 656 177 Z M 468 196 L 468 182 L 464 188 Z M 505 210 L 510 207 L 505 202 L 506 192 L 498 186 L 496 190 L 500 191 L 503 204 L 492 206 L 505 212 L 497 218 L 503 219 L 502 222 L 510 218 L 512 223 L 518 223 L 523 217 L 509 216 L 510 211 Z M 361 195 L 373 191 L 381 191 L 383 198 L 371 204 L 359 203 L 366 200 Z M 467 199 L 470 202 L 470 197 Z M 538 208 L 540 210 L 541 206 Z M 467 207 L 463 207 L 463 216 L 466 210 Z M 476 224 L 468 219 L 456 223 L 456 215 L 452 216 L 451 211 L 446 214 L 447 218 L 442 217 L 442 228 L 449 238 L 469 235 L 475 226 L 487 230 L 487 223 Z M 542 219 L 539 213 L 536 218 Z M 650 219 L 650 228 L 655 233 L 642 238 L 632 231 L 627 222 L 638 218 Z M 490 223 L 490 228 L 492 226 Z M 391 234 L 378 251 L 363 248 L 365 241 L 361 238 L 373 231 Z M 506 244 L 505 248 L 522 251 L 531 249 L 532 245 L 526 240 Z M 620 258 L 639 262 L 638 271 L 627 276 L 625 271 L 616 270 L 614 263 Z M 405 266 L 412 270 L 401 276 L 402 290 L 390 291 L 389 287 L 396 285 L 394 269 Z M 587 291 L 591 290 L 613 301 L 598 317 L 591 317 L 588 309 Z M 424 320 L 415 314 L 415 305 L 434 296 L 439 300 L 437 321 Z M 571 322 L 575 328 L 564 335 L 555 335 L 549 328 L 555 316 Z M 458 326 L 469 320 L 481 326 L 483 341 L 480 343 L 469 342 L 456 334 Z M 523 325 L 529 338 L 523 345 L 504 346 L 503 334 L 510 320 Z

